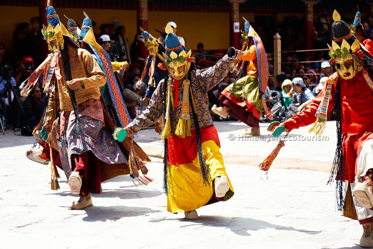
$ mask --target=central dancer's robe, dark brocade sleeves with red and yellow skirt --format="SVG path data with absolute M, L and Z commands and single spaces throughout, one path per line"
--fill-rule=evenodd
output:
M 217 176 L 226 175 L 222 155 L 219 151 L 220 141 L 216 128 L 213 126 L 213 120 L 209 113 L 209 100 L 207 91 L 219 84 L 228 74 L 229 68 L 233 65 L 233 60 L 224 56 L 215 66 L 205 70 L 191 71 L 191 89 L 194 103 L 197 109 L 198 123 L 201 131 L 201 144 L 204 158 L 210 168 L 211 179 Z M 156 122 L 163 113 L 164 81 L 157 86 L 150 100 L 150 106 L 134 121 L 128 125 L 133 133 L 148 127 Z M 203 205 L 217 201 L 225 201 L 232 197 L 233 188 L 225 197 L 217 198 L 214 194 L 213 184 L 210 180 L 210 186 L 203 186 L 200 178 L 200 165 L 197 158 L 197 140 L 195 135 L 194 119 L 191 118 L 192 136 L 180 138 L 175 135 L 176 126 L 181 115 L 183 84 L 179 85 L 172 80 L 174 88 L 178 87 L 178 105 L 175 109 L 171 108 L 170 128 L 171 137 L 168 139 L 168 155 L 170 170 L 168 171 L 168 183 L 170 187 L 167 196 L 167 211 L 186 212 L 200 208 Z M 173 89 L 173 98 L 175 98 Z M 176 100 L 175 100 L 176 101 Z M 189 114 L 192 116 L 192 100 L 189 99 Z M 171 180 L 172 179 L 172 180 Z

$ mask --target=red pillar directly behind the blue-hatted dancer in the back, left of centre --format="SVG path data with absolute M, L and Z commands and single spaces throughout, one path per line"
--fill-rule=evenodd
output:
M 141 35 L 140 27 L 148 31 L 148 0 L 138 0 L 137 5 L 137 35 Z M 138 36 L 139 37 L 139 36 Z M 140 36 L 142 38 L 142 36 Z M 148 56 L 148 50 L 142 39 L 138 39 L 138 56 L 145 59 Z M 132 59 L 133 60 L 133 59 Z M 141 60 L 140 60 L 141 62 Z

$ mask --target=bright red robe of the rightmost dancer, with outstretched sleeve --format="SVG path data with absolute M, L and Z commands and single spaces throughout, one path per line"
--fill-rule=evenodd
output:
M 338 74 L 331 77 L 335 79 L 332 87 L 328 107 L 328 116 L 334 106 L 335 90 Z M 356 161 L 363 144 L 373 138 L 373 91 L 370 89 L 362 74 L 350 80 L 340 78 L 341 84 L 341 121 L 343 134 L 343 180 L 350 183 L 355 181 Z M 290 130 L 313 124 L 316 121 L 315 113 L 325 94 L 327 84 L 323 91 L 308 105 L 304 111 L 293 115 L 283 122 Z

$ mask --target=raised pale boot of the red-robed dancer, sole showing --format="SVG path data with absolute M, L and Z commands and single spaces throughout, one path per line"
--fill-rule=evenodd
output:
M 372 174 L 367 174 L 362 183 L 356 183 L 354 197 L 364 208 L 373 207 Z

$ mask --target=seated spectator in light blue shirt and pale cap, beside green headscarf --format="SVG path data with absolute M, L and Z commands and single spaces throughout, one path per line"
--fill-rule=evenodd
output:
M 286 118 L 290 118 L 292 115 L 304 110 L 315 99 L 311 90 L 305 86 L 302 78 L 294 78 L 292 83 L 292 87 L 297 94 L 293 97 L 293 103 L 289 105 L 289 112 Z

